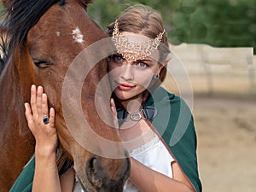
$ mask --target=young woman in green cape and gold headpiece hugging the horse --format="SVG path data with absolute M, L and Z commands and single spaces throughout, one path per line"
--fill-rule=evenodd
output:
M 111 108 L 131 155 L 131 175 L 124 191 L 201 191 L 192 115 L 180 97 L 160 87 L 170 60 L 160 15 L 146 6 L 133 6 L 108 26 L 108 34 L 117 50 L 108 57 Z M 31 103 L 25 107 L 36 138 L 32 191 L 83 191 L 73 179 L 72 167 L 58 175 L 55 110 L 48 109 L 41 86 L 32 85 L 31 92 Z M 45 113 L 49 113 L 48 124 L 42 122 Z M 172 136 L 179 129 L 183 134 L 172 144 Z

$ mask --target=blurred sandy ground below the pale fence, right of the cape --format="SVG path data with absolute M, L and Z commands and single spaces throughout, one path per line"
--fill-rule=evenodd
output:
M 199 171 L 205 192 L 256 191 L 256 100 L 195 96 Z

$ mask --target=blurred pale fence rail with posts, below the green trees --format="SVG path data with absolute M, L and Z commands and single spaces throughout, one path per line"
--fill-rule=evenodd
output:
M 246 76 L 249 89 L 256 90 L 256 55 L 253 55 L 253 48 L 215 48 L 207 44 L 170 47 L 189 74 L 205 75 L 209 91 L 213 90 L 213 77 L 216 74 L 231 74 L 234 78 Z M 175 70 L 174 63 L 173 69 Z

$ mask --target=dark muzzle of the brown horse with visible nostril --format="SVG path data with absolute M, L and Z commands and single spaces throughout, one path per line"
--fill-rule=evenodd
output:
M 84 170 L 75 170 L 84 191 L 122 192 L 130 168 L 128 157 L 113 160 L 95 156 L 87 160 Z

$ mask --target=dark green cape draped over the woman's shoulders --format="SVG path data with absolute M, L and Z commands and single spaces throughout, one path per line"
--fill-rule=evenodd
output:
M 154 106 L 157 109 L 157 115 L 150 120 L 152 125 L 171 149 L 195 190 L 201 192 L 196 158 L 195 127 L 188 106 L 183 99 L 161 87 L 154 90 L 154 94 L 148 98 L 145 106 Z M 24 167 L 9 192 L 31 192 L 34 167 L 35 159 L 32 156 L 32 160 Z

